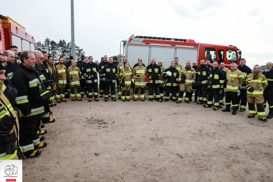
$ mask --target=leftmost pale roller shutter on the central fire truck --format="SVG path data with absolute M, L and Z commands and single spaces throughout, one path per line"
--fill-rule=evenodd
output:
M 138 58 L 142 58 L 143 64 L 149 65 L 149 46 L 129 46 L 127 47 L 127 59 L 130 65 L 135 65 Z

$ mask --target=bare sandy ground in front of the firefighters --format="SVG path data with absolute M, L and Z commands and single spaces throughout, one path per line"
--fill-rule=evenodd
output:
M 84 97 L 52 112 L 48 146 L 23 160 L 23 181 L 273 181 L 272 119 L 248 111 Z

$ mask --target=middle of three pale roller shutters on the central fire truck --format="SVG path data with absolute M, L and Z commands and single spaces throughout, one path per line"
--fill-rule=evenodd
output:
M 174 60 L 175 49 L 167 47 L 151 47 L 151 59 L 156 59 L 156 64 L 159 60 L 163 61 L 163 66 L 168 68 L 171 65 L 171 61 Z M 180 63 L 180 62 L 179 62 Z

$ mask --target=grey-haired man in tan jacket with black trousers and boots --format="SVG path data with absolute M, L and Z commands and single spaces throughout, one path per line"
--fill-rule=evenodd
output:
M 242 71 L 238 70 L 235 62 L 231 63 L 230 70 L 227 71 L 227 86 L 226 86 L 226 108 L 222 109 L 223 112 L 230 112 L 230 105 L 232 102 L 233 111 L 232 114 L 237 113 L 238 107 L 238 89 L 239 86 L 245 82 L 245 77 Z

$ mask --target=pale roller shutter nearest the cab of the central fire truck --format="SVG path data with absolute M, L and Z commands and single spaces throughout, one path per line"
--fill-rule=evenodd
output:
M 177 49 L 176 57 L 179 59 L 179 64 L 182 66 L 186 65 L 187 61 L 197 61 L 198 58 L 198 50 L 194 49 Z

